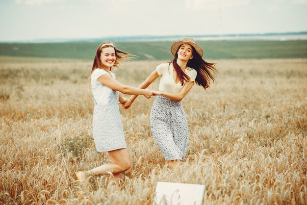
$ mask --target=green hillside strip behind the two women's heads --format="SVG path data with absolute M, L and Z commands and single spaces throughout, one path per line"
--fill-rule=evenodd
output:
M 93 59 L 101 42 L 0 43 L 0 56 Z M 115 42 L 118 49 L 137 60 L 170 60 L 173 42 Z M 197 41 L 205 59 L 306 58 L 307 40 L 297 41 Z

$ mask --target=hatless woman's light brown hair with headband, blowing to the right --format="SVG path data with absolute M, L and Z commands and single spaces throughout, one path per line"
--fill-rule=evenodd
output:
M 96 54 L 95 54 L 95 57 L 94 57 L 91 75 L 97 68 L 103 69 L 102 62 L 100 60 L 100 56 L 101 56 L 103 48 L 114 48 L 116 58 L 115 58 L 115 63 L 114 63 L 113 66 L 117 67 L 117 68 L 121 65 L 122 60 L 127 60 L 127 59 L 129 59 L 129 55 L 132 55 L 128 52 L 124 52 L 124 51 L 120 51 L 120 50 L 116 49 L 114 47 L 114 45 L 110 42 L 104 42 L 104 43 L 100 44 L 99 47 L 97 48 L 97 51 L 96 51 Z M 134 56 L 134 55 L 132 55 L 132 56 Z M 112 71 L 112 68 L 110 68 L 110 70 Z M 91 75 L 89 77 L 90 82 L 91 82 Z

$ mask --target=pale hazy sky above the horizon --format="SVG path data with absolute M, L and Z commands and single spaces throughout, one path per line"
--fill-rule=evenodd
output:
M 307 31 L 307 0 L 0 0 L 0 41 Z

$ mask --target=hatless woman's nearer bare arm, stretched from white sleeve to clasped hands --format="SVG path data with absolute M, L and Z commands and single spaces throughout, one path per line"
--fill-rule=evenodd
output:
M 110 75 L 102 75 L 101 77 L 97 78 L 97 81 L 111 88 L 112 90 L 116 90 L 124 94 L 144 95 L 146 98 L 150 98 L 152 96 L 152 92 L 150 90 L 144 90 L 129 85 L 124 85 L 113 79 Z

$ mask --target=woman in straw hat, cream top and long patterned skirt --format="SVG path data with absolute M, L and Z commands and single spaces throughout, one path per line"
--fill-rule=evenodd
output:
M 158 65 L 139 88 L 147 88 L 161 77 L 159 91 L 153 91 L 157 98 L 151 110 L 151 129 L 163 156 L 174 167 L 184 158 L 188 148 L 188 127 L 180 101 L 195 82 L 204 89 L 208 88 L 209 80 L 214 81 L 211 72 L 217 70 L 214 63 L 202 58 L 203 50 L 192 38 L 173 43 L 171 52 L 174 59 Z M 136 97 L 131 96 L 123 107 L 128 109 Z

